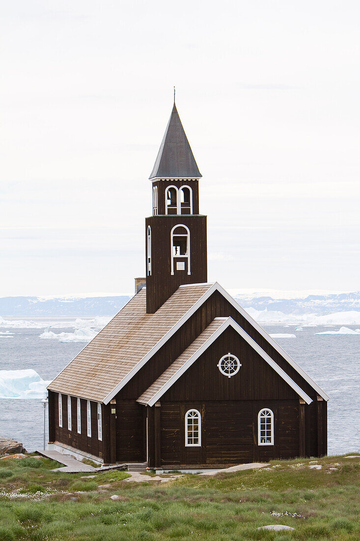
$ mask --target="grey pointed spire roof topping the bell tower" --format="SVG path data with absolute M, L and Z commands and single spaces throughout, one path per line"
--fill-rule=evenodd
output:
M 174 101 L 168 126 L 166 126 L 165 135 L 149 179 L 155 177 L 198 179 L 201 176 Z

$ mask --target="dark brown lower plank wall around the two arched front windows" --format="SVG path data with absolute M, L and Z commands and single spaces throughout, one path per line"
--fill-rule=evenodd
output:
M 258 414 L 263 408 L 274 413 L 274 445 L 258 445 Z M 199 447 L 185 446 L 185 414 L 191 409 L 201 412 Z M 159 410 L 163 467 L 217 467 L 299 456 L 297 399 L 162 401 Z M 152 456 L 149 464 L 154 466 Z

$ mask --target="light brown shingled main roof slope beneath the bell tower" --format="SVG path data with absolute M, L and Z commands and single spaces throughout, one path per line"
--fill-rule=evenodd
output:
M 107 404 L 211 287 L 211 283 L 179 287 L 155 314 L 146 313 L 146 288 L 141 289 L 48 389 Z

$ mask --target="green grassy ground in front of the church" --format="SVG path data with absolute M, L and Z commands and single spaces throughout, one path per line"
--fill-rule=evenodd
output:
M 360 455 L 319 459 L 322 470 L 313 462 L 136 484 L 121 471 L 86 480 L 52 472 L 48 459 L 0 460 L 0 541 L 357 541 Z M 257 530 L 266 524 L 295 530 Z

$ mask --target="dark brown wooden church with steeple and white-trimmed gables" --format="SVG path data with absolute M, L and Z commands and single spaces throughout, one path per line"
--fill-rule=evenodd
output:
M 206 469 L 321 457 L 328 395 L 217 282 L 176 105 L 150 175 L 145 278 L 49 390 L 49 449 Z

